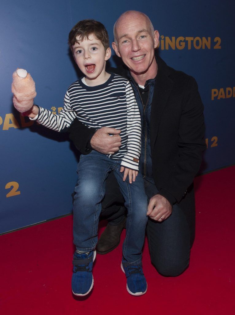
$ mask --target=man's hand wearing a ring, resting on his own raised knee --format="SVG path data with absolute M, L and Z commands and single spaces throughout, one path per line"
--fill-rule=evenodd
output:
M 151 219 L 162 222 L 166 220 L 171 213 L 172 205 L 165 197 L 157 194 L 150 199 L 147 215 Z

